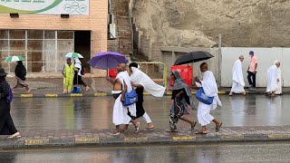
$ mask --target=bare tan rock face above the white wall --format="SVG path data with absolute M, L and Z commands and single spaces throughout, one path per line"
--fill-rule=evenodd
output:
M 287 0 L 134 0 L 139 36 L 182 47 L 288 47 Z M 140 45 L 141 46 L 141 45 Z

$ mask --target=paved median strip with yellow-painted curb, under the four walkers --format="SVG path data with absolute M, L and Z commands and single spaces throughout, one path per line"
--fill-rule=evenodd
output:
M 7 139 L 7 136 L 0 136 L 0 148 L 290 140 L 290 126 L 222 127 L 218 132 L 215 132 L 214 129 L 209 129 L 207 135 L 195 134 L 198 129 L 194 129 L 192 132 L 189 129 L 179 129 L 179 132 L 167 132 L 166 129 L 155 129 L 155 131 L 140 130 L 137 134 L 134 129 L 129 129 L 125 133 L 121 133 L 120 136 L 111 136 L 112 130 L 26 130 L 21 131 L 22 138 L 20 139 Z

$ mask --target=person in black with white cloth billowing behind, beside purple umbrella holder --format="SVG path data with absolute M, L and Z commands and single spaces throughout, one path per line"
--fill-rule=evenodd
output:
M 129 64 L 129 72 L 131 73 L 131 85 L 136 88 L 135 91 L 138 94 L 138 101 L 136 102 L 137 116 L 134 119 L 142 117 L 147 122 L 147 128 L 144 130 L 153 130 L 154 125 L 143 107 L 143 92 L 145 90 L 155 97 L 163 97 L 166 88 L 153 82 L 146 73 L 141 72 L 137 62 L 131 62 Z

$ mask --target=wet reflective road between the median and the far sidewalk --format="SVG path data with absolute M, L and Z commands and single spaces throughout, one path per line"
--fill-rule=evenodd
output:
M 264 95 L 220 96 L 223 106 L 212 115 L 224 126 L 260 126 L 290 124 L 290 95 L 275 99 Z M 17 129 L 113 129 L 112 97 L 14 98 L 12 117 Z M 169 97 L 146 96 L 144 108 L 157 128 L 169 128 Z M 197 110 L 191 119 L 197 120 Z M 145 121 L 140 120 L 145 127 Z M 188 125 L 183 121 L 179 127 Z M 211 124 L 213 126 L 213 124 Z

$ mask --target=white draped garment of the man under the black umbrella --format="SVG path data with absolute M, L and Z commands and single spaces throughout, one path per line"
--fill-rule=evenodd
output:
M 214 117 L 209 114 L 210 110 L 215 110 L 218 105 L 221 106 L 221 101 L 218 98 L 218 85 L 212 72 L 203 73 L 201 86 L 208 97 L 214 97 L 214 101 L 210 105 L 198 102 L 198 123 L 201 126 L 206 126 L 214 120 Z

